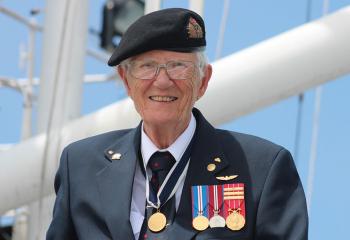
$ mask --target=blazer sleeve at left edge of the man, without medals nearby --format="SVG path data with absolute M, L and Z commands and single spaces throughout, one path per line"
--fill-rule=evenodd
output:
M 55 177 L 56 201 L 53 218 L 46 234 L 46 240 L 74 240 L 76 236 L 69 205 L 68 150 L 62 152 Z

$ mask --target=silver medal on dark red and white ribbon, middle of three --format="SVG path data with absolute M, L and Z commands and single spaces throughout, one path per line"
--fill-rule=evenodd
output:
M 220 216 L 220 211 L 222 207 L 222 185 L 210 185 L 209 188 L 209 211 L 214 214 L 210 217 L 209 226 L 211 228 L 215 227 L 225 227 L 225 218 Z

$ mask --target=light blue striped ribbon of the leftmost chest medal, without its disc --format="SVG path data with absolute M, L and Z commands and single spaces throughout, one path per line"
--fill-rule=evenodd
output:
M 192 186 L 192 216 L 205 216 L 208 218 L 208 186 Z

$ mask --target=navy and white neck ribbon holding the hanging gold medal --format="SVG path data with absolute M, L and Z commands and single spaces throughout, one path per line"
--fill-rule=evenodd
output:
M 175 165 L 171 168 L 168 175 L 164 179 L 164 182 L 160 186 L 158 193 L 154 193 L 149 186 L 147 171 L 146 172 L 146 200 L 149 206 L 159 209 L 163 206 L 172 196 L 174 196 L 176 190 L 179 188 L 180 182 L 185 177 L 193 142 L 195 141 L 196 132 L 194 133 L 190 143 L 188 144 L 184 154 L 182 155 L 180 161 L 177 161 Z M 146 169 L 146 167 L 144 166 Z M 151 194 L 150 194 L 151 192 Z

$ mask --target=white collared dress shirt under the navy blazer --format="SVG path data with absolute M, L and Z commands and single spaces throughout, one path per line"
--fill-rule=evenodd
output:
M 193 114 L 191 114 L 191 120 L 190 120 L 190 123 L 188 124 L 188 127 L 175 140 L 175 142 L 166 149 L 158 149 L 157 146 L 155 146 L 155 144 L 152 142 L 152 140 L 146 135 L 142 125 L 141 154 L 142 154 L 144 166 L 147 166 L 147 163 L 150 157 L 152 156 L 153 153 L 157 151 L 169 151 L 175 158 L 176 162 L 180 161 L 182 155 L 184 154 L 187 146 L 189 145 L 193 137 L 195 130 L 196 130 L 196 120 Z M 150 171 L 149 169 L 147 170 Z M 185 171 L 187 171 L 187 168 L 185 168 Z M 151 173 L 149 172 L 149 174 L 147 175 L 150 177 Z M 186 173 L 185 173 L 185 176 L 186 176 Z M 181 180 L 179 184 L 179 188 L 175 192 L 176 209 L 178 209 L 179 207 L 184 181 L 185 181 L 185 178 Z M 131 227 L 136 240 L 139 238 L 141 226 L 144 220 L 145 203 L 146 203 L 146 181 L 145 181 L 145 177 L 142 174 L 139 164 L 136 164 L 134 184 L 132 189 L 131 210 L 130 210 L 130 222 L 131 222 Z

